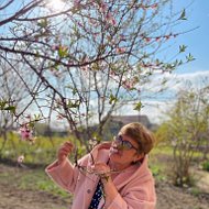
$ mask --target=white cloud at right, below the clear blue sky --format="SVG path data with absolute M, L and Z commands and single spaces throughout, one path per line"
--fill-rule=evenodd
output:
M 140 114 L 146 114 L 151 122 L 160 123 L 165 120 L 164 112 L 169 110 L 175 102 L 174 95 L 180 90 L 185 89 L 188 81 L 193 85 L 194 88 L 201 88 L 202 86 L 209 85 L 209 70 L 187 73 L 187 74 L 164 74 L 153 76 L 151 82 L 144 86 L 144 89 L 152 89 L 153 92 L 158 91 L 162 87 L 160 84 L 164 79 L 167 79 L 166 90 L 152 100 L 142 100 L 144 108 L 140 111 Z M 188 87 L 188 86 L 187 86 Z M 173 92 L 173 94 L 170 94 Z M 163 99 L 162 99 L 163 98 Z M 138 111 L 133 110 L 133 107 L 125 107 L 122 110 L 124 113 L 129 114 L 139 114 Z

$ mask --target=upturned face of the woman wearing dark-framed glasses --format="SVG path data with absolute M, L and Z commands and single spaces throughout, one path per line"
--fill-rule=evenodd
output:
M 110 147 L 110 160 L 112 163 L 122 165 L 130 165 L 139 157 L 139 144 L 129 138 L 119 133 L 114 138 L 112 145 Z

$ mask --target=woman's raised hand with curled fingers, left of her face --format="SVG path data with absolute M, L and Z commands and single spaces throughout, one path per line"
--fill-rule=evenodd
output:
M 72 153 L 74 150 L 74 144 L 72 142 L 65 142 L 57 152 L 57 158 L 58 163 L 62 164 L 66 161 L 67 156 Z

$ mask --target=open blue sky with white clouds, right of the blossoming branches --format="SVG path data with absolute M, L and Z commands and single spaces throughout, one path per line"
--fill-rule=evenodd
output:
M 207 77 L 209 80 L 209 0 L 174 0 L 175 10 L 184 8 L 186 9 L 187 21 L 182 22 L 178 26 L 179 31 L 198 29 L 177 36 L 172 43 L 172 48 L 176 51 L 179 45 L 184 44 L 187 46 L 187 54 L 191 53 L 196 59 L 180 66 L 172 75 L 165 76 L 170 79 L 170 82 L 168 82 L 168 90 L 162 94 L 161 97 L 156 96 L 152 100 L 142 100 L 145 107 L 140 113 L 146 114 L 152 122 L 158 123 L 165 119 L 163 112 L 172 107 L 175 98 L 165 99 L 164 101 L 161 98 L 167 98 L 168 94 L 177 92 L 180 88 L 184 89 L 184 80 L 191 81 L 194 86 L 199 86 L 201 78 Z M 178 84 L 175 85 L 177 80 Z M 160 78 L 148 85 L 156 88 L 157 82 L 160 82 Z M 131 111 L 130 113 L 136 114 L 138 112 Z

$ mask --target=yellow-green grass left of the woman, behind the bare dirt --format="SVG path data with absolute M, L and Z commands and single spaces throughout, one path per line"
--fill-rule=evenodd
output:
M 56 158 L 57 148 L 69 138 L 53 138 L 53 144 L 48 138 L 40 136 L 34 144 L 22 141 L 19 135 L 8 134 L 8 141 L 1 152 L 1 160 L 10 160 L 15 168 L 4 166 L 0 173 L 0 183 L 11 185 L 20 189 L 42 190 L 57 197 L 69 199 L 69 194 L 59 188 L 44 172 L 46 165 Z M 2 139 L 0 138 L 0 147 Z M 26 168 L 18 167 L 18 157 L 24 155 L 23 165 Z M 10 162 L 10 163 L 11 163 Z M 36 168 L 33 168 L 34 165 Z

